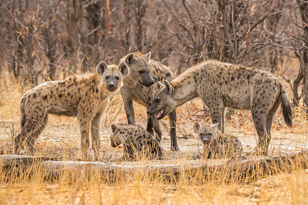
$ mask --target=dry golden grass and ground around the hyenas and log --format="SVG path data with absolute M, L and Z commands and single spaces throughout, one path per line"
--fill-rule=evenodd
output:
M 6 149 L 12 144 L 12 136 L 20 130 L 18 111 L 19 100 L 24 90 L 20 90 L 10 78 L 0 84 L 0 145 Z M 25 88 L 27 90 L 27 88 Z M 180 151 L 170 151 L 170 137 L 164 124 L 169 127 L 168 118 L 162 120 L 162 146 L 164 160 L 120 162 L 121 165 L 156 165 L 203 163 L 217 164 L 228 159 L 190 160 L 191 155 L 202 149 L 192 126 L 202 119 L 202 103 L 199 99 L 187 102 L 177 110 L 177 136 L 192 134 L 188 139 L 178 138 Z M 195 113 L 197 114 L 195 115 Z M 3 116 L 3 117 L 2 117 Z M 145 108 L 135 104 L 136 123 L 146 126 Z M 127 122 L 122 99 L 116 95 L 101 126 L 101 158 L 117 163 L 121 156 L 120 147 L 110 146 L 109 130 L 111 123 Z M 256 145 L 257 134 L 249 111 L 236 111 L 226 121 L 227 134 L 241 140 L 245 152 Z M 294 128 L 286 127 L 278 111 L 274 116 L 269 155 L 290 153 L 307 149 L 308 123 L 301 108 L 294 109 Z M 75 160 L 79 147 L 79 133 L 75 118 L 50 116 L 49 123 L 36 141 L 36 155 Z M 91 150 L 89 150 L 89 155 Z M 253 157 L 251 157 L 253 158 Z M 35 168 L 35 167 L 34 167 Z M 249 184 L 224 183 L 220 181 L 189 180 L 183 176 L 174 183 L 162 179 L 135 175 L 130 179 L 107 182 L 93 173 L 88 180 L 79 180 L 72 175 L 62 175 L 59 179 L 46 180 L 40 170 L 34 175 L 18 178 L 6 176 L 0 170 L 0 204 L 307 204 L 307 170 L 291 174 L 280 174 Z

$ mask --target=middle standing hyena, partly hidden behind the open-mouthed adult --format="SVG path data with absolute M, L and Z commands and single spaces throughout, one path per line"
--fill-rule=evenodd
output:
M 120 60 L 120 62 L 125 62 L 129 67 L 129 74 L 123 79 L 124 85 L 121 87 L 120 92 L 124 101 L 124 110 L 127 115 L 128 124 L 130 125 L 135 125 L 133 100 L 148 109 L 152 104 L 154 95 L 162 88 L 161 83 L 157 82 L 162 82 L 163 80 L 170 81 L 174 78 L 169 67 L 151 60 L 150 55 L 151 52 L 146 55 L 135 52 L 124 56 Z M 170 111 L 168 117 L 171 150 L 178 151 L 179 147 L 176 143 L 176 110 Z M 147 131 L 153 133 L 153 129 L 159 140 L 161 140 L 162 132 L 159 121 L 154 116 L 148 116 Z

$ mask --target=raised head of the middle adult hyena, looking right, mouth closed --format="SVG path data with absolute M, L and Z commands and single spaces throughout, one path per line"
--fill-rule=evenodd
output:
M 142 57 L 131 53 L 128 54 L 124 60 L 130 70 L 128 78 L 146 87 L 149 87 L 155 83 L 155 80 L 152 78 L 150 73 L 151 70 L 148 66 L 150 56 L 151 52 Z

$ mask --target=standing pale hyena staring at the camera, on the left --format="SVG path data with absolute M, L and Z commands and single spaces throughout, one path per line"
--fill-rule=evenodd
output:
M 128 66 L 122 62 L 107 66 L 104 61 L 96 73 L 75 74 L 63 81 L 42 83 L 28 90 L 21 98 L 19 109 L 21 131 L 14 138 L 14 154 L 26 139 L 30 155 L 34 154 L 34 142 L 48 121 L 48 114 L 78 118 L 80 130 L 80 153 L 87 159 L 91 127 L 93 158 L 99 160 L 99 126 L 109 98 L 122 85 L 128 75 Z

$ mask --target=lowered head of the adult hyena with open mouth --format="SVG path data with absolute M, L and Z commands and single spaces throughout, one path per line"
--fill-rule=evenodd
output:
M 147 113 L 160 120 L 168 115 L 176 108 L 176 102 L 174 101 L 174 88 L 166 80 L 163 80 L 164 87 L 158 91 L 153 98 L 151 107 L 149 107 Z

